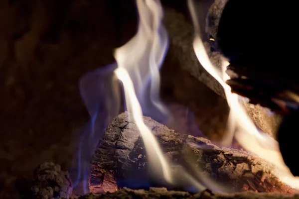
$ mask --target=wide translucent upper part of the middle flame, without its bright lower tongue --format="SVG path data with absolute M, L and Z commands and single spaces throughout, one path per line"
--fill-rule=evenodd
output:
M 161 24 L 163 10 L 159 0 L 136 0 L 136 3 L 140 19 L 138 32 L 116 49 L 114 56 L 119 68 L 128 71 L 144 113 L 167 117 L 168 110 L 159 99 L 159 68 L 168 48 L 167 32 Z

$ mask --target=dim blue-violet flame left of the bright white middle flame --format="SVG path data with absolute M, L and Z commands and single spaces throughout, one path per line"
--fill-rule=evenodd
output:
M 117 64 L 86 74 L 80 81 L 80 93 L 90 114 L 90 121 L 80 131 L 79 146 L 74 157 L 71 177 L 80 194 L 89 193 L 89 163 L 105 128 L 119 114 L 120 88 L 114 76 Z

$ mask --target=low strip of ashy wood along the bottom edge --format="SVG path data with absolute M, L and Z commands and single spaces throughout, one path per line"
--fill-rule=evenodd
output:
M 280 194 L 261 194 L 243 192 L 235 194 L 217 194 L 209 190 L 193 194 L 189 192 L 167 191 L 165 188 L 151 188 L 145 190 L 123 189 L 114 193 L 103 195 L 86 195 L 79 199 L 299 199 L 298 195 L 285 196 Z

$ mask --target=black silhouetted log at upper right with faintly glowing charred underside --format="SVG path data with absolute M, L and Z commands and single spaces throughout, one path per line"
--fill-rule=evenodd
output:
M 296 46 L 296 40 L 284 42 L 289 32 L 278 28 L 276 21 L 283 20 L 284 25 L 294 23 L 295 11 L 277 15 L 274 10 L 284 10 L 285 4 L 273 3 L 273 9 L 267 9 L 268 6 L 256 6 L 250 0 L 230 0 L 223 9 L 216 41 L 231 63 L 228 74 L 232 80 L 227 83 L 232 91 L 254 104 L 286 114 L 299 106 L 298 101 L 286 95 L 287 91 L 299 94 L 298 75 L 292 72 L 297 59 L 294 51 L 289 50 Z M 269 34 L 277 42 L 267 39 Z M 262 39 L 262 35 L 266 38 Z

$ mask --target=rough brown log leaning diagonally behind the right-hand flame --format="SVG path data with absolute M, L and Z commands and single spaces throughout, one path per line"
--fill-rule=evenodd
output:
M 215 0 L 209 10 L 207 34 L 212 40 L 216 36 L 218 23 L 225 2 L 226 0 Z M 170 38 L 168 53 L 171 53 L 171 57 L 177 59 L 176 63 L 178 63 L 183 70 L 188 71 L 192 76 L 206 84 L 216 94 L 226 98 L 222 86 L 201 66 L 196 58 L 192 45 L 194 34 L 191 22 L 181 13 L 168 8 L 165 9 L 164 24 Z M 221 54 L 216 51 L 214 41 L 204 41 L 204 43 L 211 62 L 220 69 Z M 276 139 L 276 132 L 282 120 L 280 115 L 274 114 L 271 116 L 269 115 L 269 111 L 258 104 L 245 103 L 245 109 L 259 128 Z

